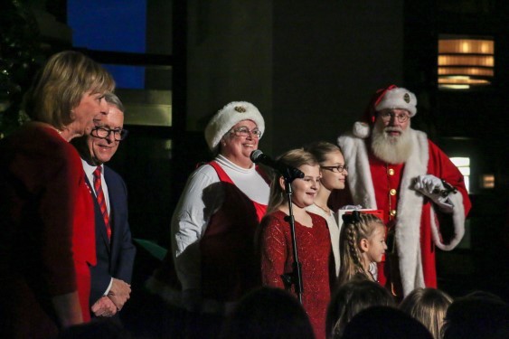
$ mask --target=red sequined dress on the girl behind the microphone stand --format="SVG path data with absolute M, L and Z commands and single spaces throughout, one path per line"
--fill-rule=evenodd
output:
M 316 338 L 325 338 L 325 314 L 330 301 L 329 274 L 332 249 L 324 218 L 309 213 L 313 227 L 295 222 L 297 255 L 302 266 L 302 305 L 313 325 Z M 260 225 L 261 276 L 265 286 L 285 288 L 280 276 L 290 273 L 293 245 L 284 212 L 270 213 Z M 292 287 L 293 292 L 293 287 Z

